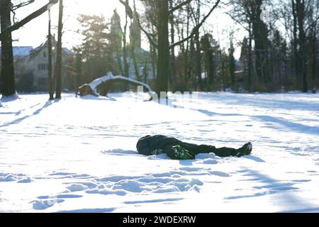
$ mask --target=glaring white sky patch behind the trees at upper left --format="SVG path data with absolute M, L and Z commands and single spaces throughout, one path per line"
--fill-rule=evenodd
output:
M 21 0 L 20 0 L 21 1 Z M 47 0 L 36 0 L 35 3 L 25 6 L 17 11 L 17 21 L 21 20 L 25 16 L 28 16 L 36 9 L 40 9 L 44 6 Z M 77 22 L 79 14 L 88 15 L 101 15 L 106 18 L 110 18 L 113 14 L 113 10 L 117 7 L 118 11 L 121 11 L 123 7 L 118 4 L 116 0 L 65 0 L 64 9 L 64 40 L 63 45 L 67 48 L 72 48 L 73 45 L 79 44 L 81 38 L 77 35 L 76 31 L 80 28 Z M 52 33 L 56 33 L 58 4 L 52 6 Z M 30 21 L 23 28 L 13 33 L 13 38 L 18 39 L 13 45 L 23 46 L 32 45 L 33 47 L 40 45 L 45 41 L 47 35 L 47 21 L 48 13 L 43 13 L 42 16 Z

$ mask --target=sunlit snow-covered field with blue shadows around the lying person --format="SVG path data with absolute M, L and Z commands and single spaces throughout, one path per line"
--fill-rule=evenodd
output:
M 2 103 L 0 212 L 319 211 L 318 94 L 198 94 L 169 106 L 111 96 Z M 159 133 L 254 150 L 136 153 L 138 138 Z

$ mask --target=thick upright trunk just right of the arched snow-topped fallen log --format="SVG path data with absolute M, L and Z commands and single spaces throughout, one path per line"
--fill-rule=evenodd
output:
M 169 7 L 168 0 L 158 4 L 158 59 L 156 92 L 167 92 L 169 79 Z

